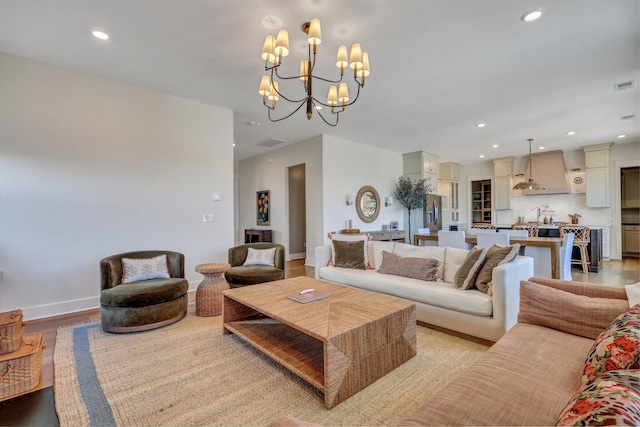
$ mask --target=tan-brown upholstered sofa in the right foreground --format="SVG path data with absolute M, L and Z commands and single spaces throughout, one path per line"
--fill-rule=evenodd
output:
M 623 287 L 537 277 L 521 283 L 520 298 L 518 323 L 402 425 L 555 424 L 595 338 L 629 303 Z

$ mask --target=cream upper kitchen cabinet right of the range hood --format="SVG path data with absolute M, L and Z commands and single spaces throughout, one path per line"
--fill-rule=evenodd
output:
M 611 206 L 609 189 L 609 150 L 613 142 L 582 147 L 586 165 L 587 207 Z

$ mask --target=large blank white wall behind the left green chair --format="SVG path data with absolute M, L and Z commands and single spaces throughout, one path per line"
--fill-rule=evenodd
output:
M 232 143 L 230 110 L 0 53 L 0 311 L 97 307 L 130 250 L 184 253 L 195 288 L 233 243 Z

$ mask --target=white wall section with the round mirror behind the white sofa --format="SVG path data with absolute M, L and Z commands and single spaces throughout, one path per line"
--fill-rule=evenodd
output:
M 387 196 L 393 196 L 396 182 L 402 176 L 402 154 L 360 144 L 353 141 L 323 136 L 324 167 L 324 244 L 329 242 L 327 233 L 349 226 L 362 231 L 380 230 L 382 224 L 398 221 L 404 229 L 404 208 L 397 202 L 384 206 Z M 380 195 L 378 218 L 371 223 L 360 220 L 355 203 L 345 204 L 346 195 L 355 199 L 358 190 L 365 185 L 374 187 Z M 413 220 L 413 218 L 412 218 Z

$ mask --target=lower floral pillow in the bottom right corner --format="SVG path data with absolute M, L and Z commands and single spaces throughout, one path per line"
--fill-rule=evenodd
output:
M 605 372 L 583 385 L 560 412 L 556 425 L 640 425 L 640 370 Z

